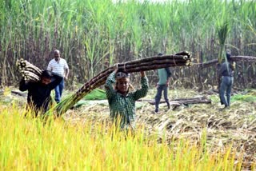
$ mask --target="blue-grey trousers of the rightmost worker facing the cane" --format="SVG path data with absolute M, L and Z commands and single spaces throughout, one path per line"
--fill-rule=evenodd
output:
M 233 77 L 222 76 L 219 96 L 223 105 L 225 105 L 226 107 L 230 106 L 230 96 L 231 96 L 231 89 L 232 89 L 233 83 L 234 83 Z M 225 98 L 225 93 L 226 93 L 226 98 Z

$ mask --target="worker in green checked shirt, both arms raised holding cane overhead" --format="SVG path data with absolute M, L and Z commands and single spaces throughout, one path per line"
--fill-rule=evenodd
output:
M 110 105 L 110 117 L 121 130 L 134 131 L 135 129 L 135 101 L 145 97 L 149 89 L 148 78 L 144 71 L 141 71 L 141 75 L 142 88 L 136 91 L 130 85 L 130 74 L 118 72 L 118 65 L 106 79 L 106 97 Z

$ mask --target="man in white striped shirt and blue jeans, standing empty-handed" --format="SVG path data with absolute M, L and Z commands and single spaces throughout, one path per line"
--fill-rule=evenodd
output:
M 66 63 L 66 60 L 61 58 L 59 50 L 54 50 L 54 59 L 50 60 L 47 70 L 60 74 L 63 77 L 62 82 L 60 82 L 54 89 L 55 101 L 59 103 L 59 101 L 61 101 L 62 90 L 64 88 L 64 79 L 67 80 L 70 73 L 69 66 Z

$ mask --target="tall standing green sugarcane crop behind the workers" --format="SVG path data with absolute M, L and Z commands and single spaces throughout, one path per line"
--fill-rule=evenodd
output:
M 256 56 L 254 0 L 194 0 L 150 3 L 111 0 L 2 0 L 0 68 L 2 85 L 20 79 L 25 58 L 42 69 L 59 49 L 70 65 L 70 83 L 86 82 L 115 62 L 164 52 L 190 51 L 194 63 L 218 58 L 218 23 L 230 26 L 225 48 Z M 215 67 L 176 68 L 173 81 L 184 87 L 216 85 Z M 154 72 L 149 72 L 154 82 Z M 255 65 L 239 62 L 238 87 L 255 87 Z M 178 79 L 179 78 L 179 79 Z

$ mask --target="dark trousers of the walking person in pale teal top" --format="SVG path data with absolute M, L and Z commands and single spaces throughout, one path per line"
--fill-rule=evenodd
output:
M 154 97 L 155 100 L 155 112 L 159 111 L 159 103 L 161 101 L 162 97 L 162 91 L 163 91 L 163 96 L 165 97 L 166 104 L 168 106 L 168 109 L 170 108 L 170 103 L 168 99 L 168 86 L 167 85 L 158 85 L 158 92 L 157 95 Z

